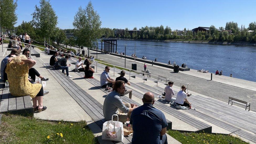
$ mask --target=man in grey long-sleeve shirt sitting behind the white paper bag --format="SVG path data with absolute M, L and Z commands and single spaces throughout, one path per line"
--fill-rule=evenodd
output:
M 104 100 L 103 115 L 106 121 L 111 120 L 112 115 L 116 114 L 119 121 L 126 122 L 127 118 L 130 119 L 132 110 L 137 107 L 134 104 L 122 102 L 120 98 L 122 93 L 125 93 L 125 83 L 124 81 L 116 81 L 113 92 L 109 93 Z M 115 116 L 113 120 L 117 121 L 117 117 Z

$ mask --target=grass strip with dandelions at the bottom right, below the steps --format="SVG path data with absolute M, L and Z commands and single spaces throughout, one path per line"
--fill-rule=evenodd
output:
M 207 133 L 187 133 L 169 130 L 167 133 L 181 143 L 221 143 L 221 144 L 246 144 L 240 138 L 223 134 L 207 134 Z

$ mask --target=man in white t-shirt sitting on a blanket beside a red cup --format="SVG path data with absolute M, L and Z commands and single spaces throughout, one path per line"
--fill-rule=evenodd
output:
M 176 98 L 176 104 L 181 106 L 187 106 L 189 109 L 191 109 L 191 103 L 187 99 L 187 95 L 184 90 L 186 90 L 186 87 L 183 85 L 181 87 L 181 90 L 177 93 Z

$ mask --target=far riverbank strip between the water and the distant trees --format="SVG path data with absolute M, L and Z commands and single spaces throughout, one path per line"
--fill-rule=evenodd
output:
M 219 45 L 239 45 L 239 46 L 256 46 L 254 43 L 248 42 L 222 42 L 222 41 L 207 41 L 207 40 L 141 40 L 141 39 L 120 39 L 120 38 L 107 38 L 115 40 L 138 40 L 138 41 L 162 41 L 162 42 L 185 42 L 195 44 L 219 44 Z

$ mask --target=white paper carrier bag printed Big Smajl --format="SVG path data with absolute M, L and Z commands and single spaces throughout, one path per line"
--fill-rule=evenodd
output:
M 113 116 L 117 116 L 117 121 L 113 121 Z M 119 141 L 124 138 L 123 123 L 118 120 L 118 115 L 112 115 L 112 120 L 106 121 L 102 128 L 102 140 Z

